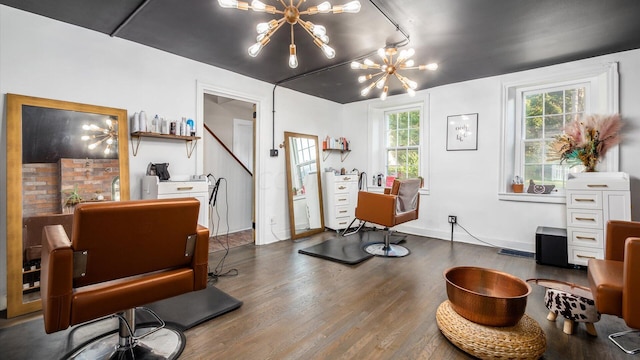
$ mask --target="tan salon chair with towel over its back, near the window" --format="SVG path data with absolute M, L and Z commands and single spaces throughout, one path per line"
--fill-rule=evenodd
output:
M 356 219 L 384 226 L 384 242 L 371 244 L 365 251 L 378 256 L 400 257 L 409 255 L 409 249 L 391 244 L 391 228 L 418 218 L 419 190 L 422 179 L 394 180 L 384 194 L 360 191 Z

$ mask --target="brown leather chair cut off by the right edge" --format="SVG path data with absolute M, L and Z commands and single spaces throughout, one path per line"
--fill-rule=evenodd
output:
M 628 354 L 638 353 L 640 347 L 627 349 L 616 338 L 640 329 L 640 222 L 609 221 L 604 257 L 588 262 L 596 308 L 602 314 L 622 317 L 635 329 L 611 334 L 609 339 Z

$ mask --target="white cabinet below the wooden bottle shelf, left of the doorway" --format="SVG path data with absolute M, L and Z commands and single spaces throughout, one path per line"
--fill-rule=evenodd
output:
M 143 199 L 194 197 L 200 201 L 198 224 L 209 227 L 208 181 L 159 181 L 157 176 L 142 178 Z

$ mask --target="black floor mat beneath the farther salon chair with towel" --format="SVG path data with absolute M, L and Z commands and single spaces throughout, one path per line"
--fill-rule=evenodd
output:
M 393 234 L 390 242 L 398 244 L 404 241 L 405 237 L 405 235 Z M 337 236 L 306 249 L 300 249 L 298 252 L 342 264 L 355 265 L 373 257 L 364 251 L 365 246 L 383 241 L 383 231 L 361 231 L 349 236 Z

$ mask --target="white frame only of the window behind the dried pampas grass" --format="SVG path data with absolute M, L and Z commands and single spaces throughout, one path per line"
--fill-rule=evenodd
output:
M 527 91 L 553 89 L 572 84 L 587 84 L 590 96 L 585 114 L 615 114 L 619 112 L 618 63 L 597 64 L 578 67 L 567 71 L 559 69 L 548 72 L 544 77 L 535 74 L 517 82 L 502 85 L 502 129 L 500 178 L 498 198 L 509 201 L 527 201 L 542 203 L 565 203 L 564 189 L 552 194 L 513 193 L 511 182 L 519 175 L 522 166 L 522 99 Z M 534 73 L 536 73 L 534 71 Z M 618 171 L 619 147 L 615 146 L 603 158 L 600 171 Z

